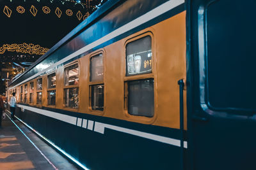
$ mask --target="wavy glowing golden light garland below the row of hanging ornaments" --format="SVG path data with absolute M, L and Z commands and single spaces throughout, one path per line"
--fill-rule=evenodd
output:
M 20 52 L 20 53 L 29 53 L 29 54 L 36 54 L 36 55 L 44 55 L 49 49 L 44 48 L 40 45 L 34 45 L 32 43 L 22 43 L 22 44 L 12 44 L 8 45 L 5 44 L 0 47 L 0 54 L 3 54 L 8 50 L 9 52 Z

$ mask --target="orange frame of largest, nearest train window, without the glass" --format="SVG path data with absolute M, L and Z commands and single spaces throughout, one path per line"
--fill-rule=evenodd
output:
M 152 71 L 151 73 L 145 73 L 145 74 L 136 74 L 136 75 L 126 75 L 127 71 L 127 56 L 126 56 L 126 46 L 129 43 L 132 43 L 132 41 L 136 41 L 138 39 L 144 38 L 146 36 L 150 36 L 151 38 L 151 50 L 152 50 Z M 156 61 L 157 61 L 157 54 L 156 54 L 156 40 L 154 39 L 154 30 L 148 28 L 147 31 L 144 32 L 138 32 L 137 34 L 133 34 L 132 36 L 129 36 L 127 40 L 124 43 L 124 115 L 128 120 L 134 121 L 134 122 L 140 122 L 145 124 L 152 124 L 157 117 L 157 88 L 156 88 Z M 134 80 L 147 80 L 147 79 L 153 79 L 154 80 L 154 115 L 153 117 L 145 117 L 141 115 L 131 115 L 128 113 L 128 82 L 134 81 Z

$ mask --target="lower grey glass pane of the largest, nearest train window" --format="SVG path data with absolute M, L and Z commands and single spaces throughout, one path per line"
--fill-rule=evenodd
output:
M 154 79 L 128 81 L 128 113 L 154 116 Z

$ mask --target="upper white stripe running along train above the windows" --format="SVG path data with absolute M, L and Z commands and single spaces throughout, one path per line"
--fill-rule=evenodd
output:
M 64 59 L 61 59 L 60 61 L 56 62 L 55 64 L 52 64 L 51 66 L 40 71 L 39 73 L 36 73 L 35 75 L 18 83 L 14 87 L 10 88 L 10 90 L 21 85 L 22 83 L 26 83 L 27 81 L 32 80 L 33 78 L 36 78 L 37 76 L 40 76 L 40 74 L 44 74 L 46 71 L 49 71 L 50 69 L 52 69 L 56 66 L 59 66 L 60 64 L 63 64 L 64 62 L 67 62 L 68 60 L 73 59 L 74 57 L 77 57 L 78 55 L 81 55 L 84 52 L 87 52 L 88 50 L 91 50 L 92 48 L 95 48 L 96 46 L 101 45 L 102 43 L 105 43 L 106 41 L 109 41 L 110 39 L 120 36 L 121 34 L 124 34 L 125 32 L 130 31 L 131 29 L 134 29 L 134 28 L 148 22 L 149 20 L 152 20 L 152 19 L 158 17 L 159 15 L 162 15 L 163 13 L 166 13 L 167 11 L 172 10 L 173 8 L 179 6 L 180 4 L 183 4 L 184 2 L 185 2 L 184 0 L 170 0 L 164 4 L 161 4 L 157 8 L 154 8 L 154 10 L 148 11 L 141 17 L 138 17 L 135 20 L 132 20 L 131 22 L 123 25 L 122 27 L 116 29 L 115 31 L 110 32 L 109 34 L 98 39 L 97 41 L 94 41 L 93 43 L 90 43 L 89 45 L 84 46 L 80 50 L 77 50 L 76 52 L 68 55 Z

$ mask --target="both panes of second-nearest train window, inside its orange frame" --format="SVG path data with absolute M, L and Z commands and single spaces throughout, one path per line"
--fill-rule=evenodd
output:
M 90 58 L 90 108 L 96 111 L 104 110 L 104 65 L 103 54 Z

